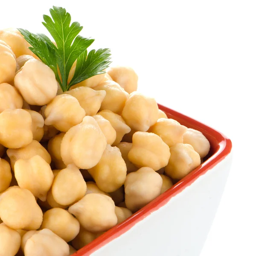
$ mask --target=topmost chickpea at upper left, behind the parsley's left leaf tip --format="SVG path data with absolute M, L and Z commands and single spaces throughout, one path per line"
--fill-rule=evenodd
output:
M 24 54 L 32 55 L 32 52 L 29 50 L 29 43 L 17 29 L 1 29 L 0 40 L 5 41 L 12 48 L 16 57 Z

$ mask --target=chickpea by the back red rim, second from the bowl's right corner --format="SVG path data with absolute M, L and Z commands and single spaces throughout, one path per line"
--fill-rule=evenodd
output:
M 186 130 L 186 126 L 180 125 L 180 123 L 174 119 L 160 118 L 151 126 L 148 132 L 157 134 L 164 143 L 171 147 L 176 143 L 183 143 L 183 134 Z

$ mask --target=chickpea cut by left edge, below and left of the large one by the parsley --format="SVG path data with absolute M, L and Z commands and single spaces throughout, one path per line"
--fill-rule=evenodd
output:
M 23 99 L 11 84 L 0 84 L 0 113 L 6 109 L 22 108 Z

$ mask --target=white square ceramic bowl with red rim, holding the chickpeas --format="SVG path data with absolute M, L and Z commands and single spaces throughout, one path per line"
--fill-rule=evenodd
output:
M 201 131 L 211 148 L 204 162 L 169 190 L 73 256 L 199 256 L 227 181 L 232 143 L 201 122 L 158 105 L 168 118 Z

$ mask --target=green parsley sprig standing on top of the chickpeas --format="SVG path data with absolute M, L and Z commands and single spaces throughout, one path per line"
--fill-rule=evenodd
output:
M 52 35 L 57 46 L 44 34 L 33 34 L 26 29 L 18 30 L 31 44 L 32 47 L 29 49 L 55 73 L 62 91 L 65 92 L 72 85 L 92 76 L 105 73 L 104 70 L 111 63 L 110 49 L 97 51 L 93 49 L 88 53 L 87 48 L 94 39 L 78 35 L 83 27 L 78 22 L 71 23 L 70 14 L 62 7 L 53 6 L 50 15 L 52 17 L 43 16 L 43 25 Z M 68 76 L 75 61 L 77 61 L 76 70 L 68 83 Z

